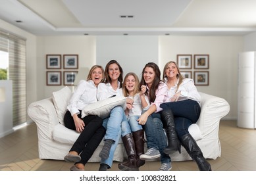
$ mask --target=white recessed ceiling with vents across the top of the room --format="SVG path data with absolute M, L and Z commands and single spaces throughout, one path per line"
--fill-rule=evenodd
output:
M 0 0 L 0 4 L 0 19 L 34 35 L 256 32 L 255 0 Z

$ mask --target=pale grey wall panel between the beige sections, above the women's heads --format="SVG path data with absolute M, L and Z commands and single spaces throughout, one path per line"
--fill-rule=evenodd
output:
M 96 40 L 96 60 L 103 68 L 114 59 L 122 66 L 124 76 L 135 72 L 140 79 L 147 62 L 159 64 L 158 36 L 97 36 Z

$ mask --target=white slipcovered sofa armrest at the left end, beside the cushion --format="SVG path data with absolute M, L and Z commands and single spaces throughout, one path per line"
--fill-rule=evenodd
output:
M 59 124 L 52 98 L 31 103 L 28 106 L 28 116 L 36 122 L 39 140 L 52 139 L 53 129 Z

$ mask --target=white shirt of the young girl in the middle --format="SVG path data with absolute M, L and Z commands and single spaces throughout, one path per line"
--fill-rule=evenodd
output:
M 128 98 L 134 100 L 134 103 L 132 104 L 132 109 L 128 110 L 128 117 L 129 116 L 140 116 L 142 110 L 147 110 L 149 108 L 149 99 L 147 98 L 147 96 L 145 96 L 145 101 L 147 102 L 148 105 L 145 108 L 142 108 L 139 93 L 134 95 L 134 97 L 131 97 L 130 95 L 128 95 Z

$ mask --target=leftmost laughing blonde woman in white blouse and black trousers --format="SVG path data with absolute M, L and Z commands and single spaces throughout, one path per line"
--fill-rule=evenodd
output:
M 97 86 L 104 79 L 102 66 L 92 66 L 87 80 L 81 80 L 76 87 L 64 115 L 64 125 L 80 133 L 78 139 L 64 157 L 66 162 L 75 162 L 72 171 L 84 170 L 85 164 L 91 158 L 95 149 L 105 135 L 103 120 L 99 116 L 85 116 L 81 118 L 84 106 L 97 102 Z

